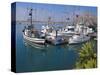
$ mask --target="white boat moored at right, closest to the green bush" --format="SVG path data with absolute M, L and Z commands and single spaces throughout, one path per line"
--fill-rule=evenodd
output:
M 88 36 L 87 31 L 89 31 L 89 28 L 84 25 L 84 23 L 80 22 L 76 26 L 76 34 L 74 34 L 71 38 L 69 38 L 69 44 L 77 44 L 77 43 L 82 43 L 86 42 L 90 39 Z

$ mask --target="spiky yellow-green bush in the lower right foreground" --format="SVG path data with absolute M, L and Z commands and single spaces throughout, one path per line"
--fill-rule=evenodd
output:
M 82 45 L 79 50 L 79 59 L 75 65 L 77 69 L 97 67 L 97 53 L 94 46 L 93 42 L 87 42 Z

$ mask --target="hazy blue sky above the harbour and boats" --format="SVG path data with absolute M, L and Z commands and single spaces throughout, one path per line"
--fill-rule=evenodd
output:
M 90 6 L 74 6 L 74 5 L 58 5 L 58 4 L 41 4 L 41 3 L 16 3 L 16 20 L 27 21 L 29 18 L 29 8 L 33 9 L 33 20 L 47 21 L 51 17 L 52 21 L 65 21 L 66 18 L 72 18 L 75 14 L 89 12 L 97 16 L 97 7 Z

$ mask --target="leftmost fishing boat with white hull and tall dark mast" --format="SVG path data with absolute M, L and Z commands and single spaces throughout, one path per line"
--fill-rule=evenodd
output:
M 34 28 L 32 24 L 32 10 L 30 9 L 30 25 L 24 28 L 23 30 L 23 38 L 27 41 L 30 41 L 32 43 L 36 44 L 45 44 L 45 39 L 40 38 L 39 32 Z

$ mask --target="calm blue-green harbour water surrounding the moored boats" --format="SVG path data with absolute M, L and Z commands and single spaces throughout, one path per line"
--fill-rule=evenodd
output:
M 74 69 L 81 45 L 30 46 L 22 36 L 25 25 L 16 25 L 16 71 L 47 71 Z M 37 29 L 40 25 L 35 26 Z

